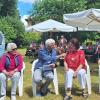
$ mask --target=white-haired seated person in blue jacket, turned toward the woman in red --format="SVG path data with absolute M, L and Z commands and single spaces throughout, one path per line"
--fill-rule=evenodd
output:
M 38 52 L 38 62 L 34 69 L 34 80 L 38 85 L 38 94 L 46 95 L 48 85 L 53 81 L 53 68 L 56 66 L 56 50 L 55 40 L 47 39 L 45 41 L 45 47 L 40 48 Z M 45 79 L 43 83 L 42 79 Z

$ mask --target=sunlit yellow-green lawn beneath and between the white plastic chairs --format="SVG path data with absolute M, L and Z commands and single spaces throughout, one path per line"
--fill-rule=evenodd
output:
M 19 52 L 21 54 L 25 54 L 25 49 L 20 49 Z M 28 57 L 24 56 L 24 61 L 26 64 L 26 69 L 24 71 L 24 93 L 22 97 L 18 96 L 17 92 L 17 100 L 63 100 L 64 95 L 64 70 L 63 67 L 58 66 L 57 67 L 57 73 L 58 73 L 58 82 L 59 82 L 59 95 L 54 94 L 54 88 L 53 85 L 50 85 L 50 90 L 52 93 L 49 93 L 47 96 L 44 97 L 33 97 L 32 96 L 32 78 L 31 78 L 31 64 L 30 61 L 32 59 L 29 59 Z M 98 66 L 97 64 L 90 64 L 91 68 L 91 81 L 92 81 L 92 94 L 88 97 L 87 100 L 100 100 L 100 94 L 98 93 Z M 8 84 L 7 89 L 7 98 L 6 100 L 10 100 L 10 82 Z M 73 100 L 84 100 L 84 98 L 80 95 L 80 87 L 77 80 L 73 81 Z

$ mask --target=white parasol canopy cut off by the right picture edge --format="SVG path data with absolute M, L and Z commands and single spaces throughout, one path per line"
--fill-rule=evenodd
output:
M 100 9 L 89 9 L 77 13 L 64 14 L 64 22 L 84 30 L 100 31 Z

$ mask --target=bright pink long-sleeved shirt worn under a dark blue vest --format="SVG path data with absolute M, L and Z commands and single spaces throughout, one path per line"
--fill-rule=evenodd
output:
M 21 71 L 22 67 L 23 67 L 23 59 L 22 59 L 22 56 L 19 55 L 19 54 L 16 54 L 16 55 L 11 55 L 10 53 L 7 53 L 9 58 L 10 58 L 10 66 L 9 66 L 9 69 L 8 71 L 13 71 L 14 69 L 18 69 L 18 71 Z M 18 56 L 18 61 L 19 61 L 19 65 L 17 66 L 16 68 L 16 64 L 15 64 L 15 57 Z M 1 60 L 0 60 L 0 71 L 2 72 L 3 70 L 6 70 L 5 69 L 5 62 L 6 62 L 6 55 L 3 55 Z

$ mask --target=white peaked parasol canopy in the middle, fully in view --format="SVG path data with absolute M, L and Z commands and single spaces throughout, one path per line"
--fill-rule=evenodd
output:
M 38 32 L 73 32 L 76 28 L 66 25 L 64 23 L 49 19 L 39 24 L 30 26 L 26 31 L 38 31 Z

